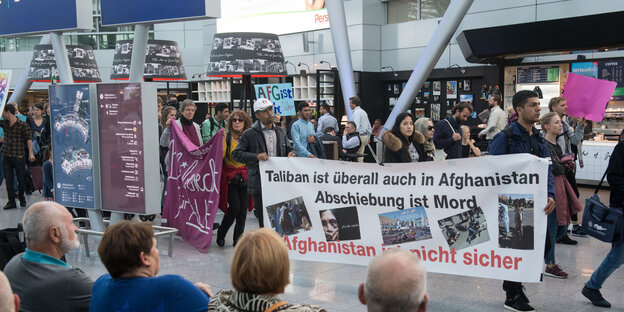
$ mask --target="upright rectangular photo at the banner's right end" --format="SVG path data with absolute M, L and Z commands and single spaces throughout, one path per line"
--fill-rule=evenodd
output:
M 498 246 L 533 249 L 533 194 L 498 194 Z

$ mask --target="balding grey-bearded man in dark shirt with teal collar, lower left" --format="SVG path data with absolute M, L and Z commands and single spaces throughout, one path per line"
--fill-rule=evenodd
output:
M 89 311 L 93 280 L 61 260 L 78 248 L 76 226 L 67 208 L 41 201 L 22 220 L 26 251 L 7 263 L 4 273 L 22 300 L 20 311 Z

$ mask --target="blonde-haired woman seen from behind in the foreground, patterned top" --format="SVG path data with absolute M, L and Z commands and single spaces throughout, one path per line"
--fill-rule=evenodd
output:
M 245 233 L 234 248 L 230 275 L 234 290 L 217 293 L 208 311 L 323 312 L 314 305 L 291 304 L 277 295 L 290 283 L 290 261 L 282 238 L 261 228 Z

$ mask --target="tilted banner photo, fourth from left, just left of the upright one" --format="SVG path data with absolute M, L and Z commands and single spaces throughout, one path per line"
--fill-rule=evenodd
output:
M 490 241 L 485 215 L 479 207 L 438 220 L 438 225 L 449 247 L 455 250 Z

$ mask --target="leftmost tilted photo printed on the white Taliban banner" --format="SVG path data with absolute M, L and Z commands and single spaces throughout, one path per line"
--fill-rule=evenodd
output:
M 310 215 L 301 196 L 267 206 L 266 211 L 271 220 L 271 227 L 282 236 L 312 229 Z

